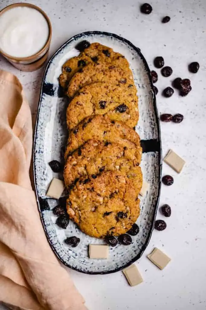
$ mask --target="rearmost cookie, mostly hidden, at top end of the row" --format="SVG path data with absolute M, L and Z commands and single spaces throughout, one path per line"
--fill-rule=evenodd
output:
M 92 43 L 79 56 L 68 59 L 62 67 L 62 74 L 59 77 L 60 85 L 65 89 L 73 75 L 89 63 L 108 62 L 122 56 L 114 52 L 112 48 L 98 42 Z

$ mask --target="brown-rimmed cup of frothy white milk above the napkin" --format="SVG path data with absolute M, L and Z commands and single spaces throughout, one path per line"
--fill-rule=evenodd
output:
M 16 68 L 34 71 L 48 58 L 52 27 L 48 16 L 29 3 L 0 11 L 0 52 Z

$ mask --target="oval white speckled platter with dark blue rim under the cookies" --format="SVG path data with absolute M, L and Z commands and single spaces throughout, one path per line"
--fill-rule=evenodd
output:
M 67 99 L 63 97 L 58 84 L 58 76 L 64 62 L 79 54 L 75 49 L 82 40 L 100 42 L 122 53 L 130 63 L 139 97 L 139 122 L 136 131 L 141 138 L 143 156 L 141 168 L 143 178 L 150 186 L 146 196 L 140 197 L 141 213 L 137 220 L 139 233 L 132 237 L 132 244 L 118 244 L 109 249 L 109 259 L 90 259 L 89 244 L 104 244 L 103 240 L 85 235 L 70 220 L 66 229 L 58 227 L 57 217 L 52 209 L 58 201 L 46 197 L 46 191 L 53 177 L 62 178 L 52 172 L 48 163 L 62 161 L 63 149 L 67 142 L 66 108 Z M 66 266 L 90 274 L 116 272 L 127 267 L 141 257 L 150 240 L 161 188 L 161 137 L 156 97 L 148 64 L 140 49 L 131 42 L 112 33 L 92 31 L 78 34 L 62 45 L 50 59 L 41 87 L 33 149 L 34 182 L 38 208 L 48 241 L 58 258 Z M 49 209 L 44 210 L 43 202 L 48 201 Z M 76 248 L 65 244 L 66 237 L 76 236 L 80 243 Z

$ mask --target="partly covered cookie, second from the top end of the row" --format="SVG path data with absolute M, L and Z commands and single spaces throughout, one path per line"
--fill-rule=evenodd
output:
M 128 61 L 124 57 L 119 57 L 111 63 L 90 63 L 82 68 L 80 72 L 75 73 L 69 82 L 67 95 L 74 97 L 80 88 L 94 82 L 125 84 L 126 86 L 133 85 L 135 87 Z

